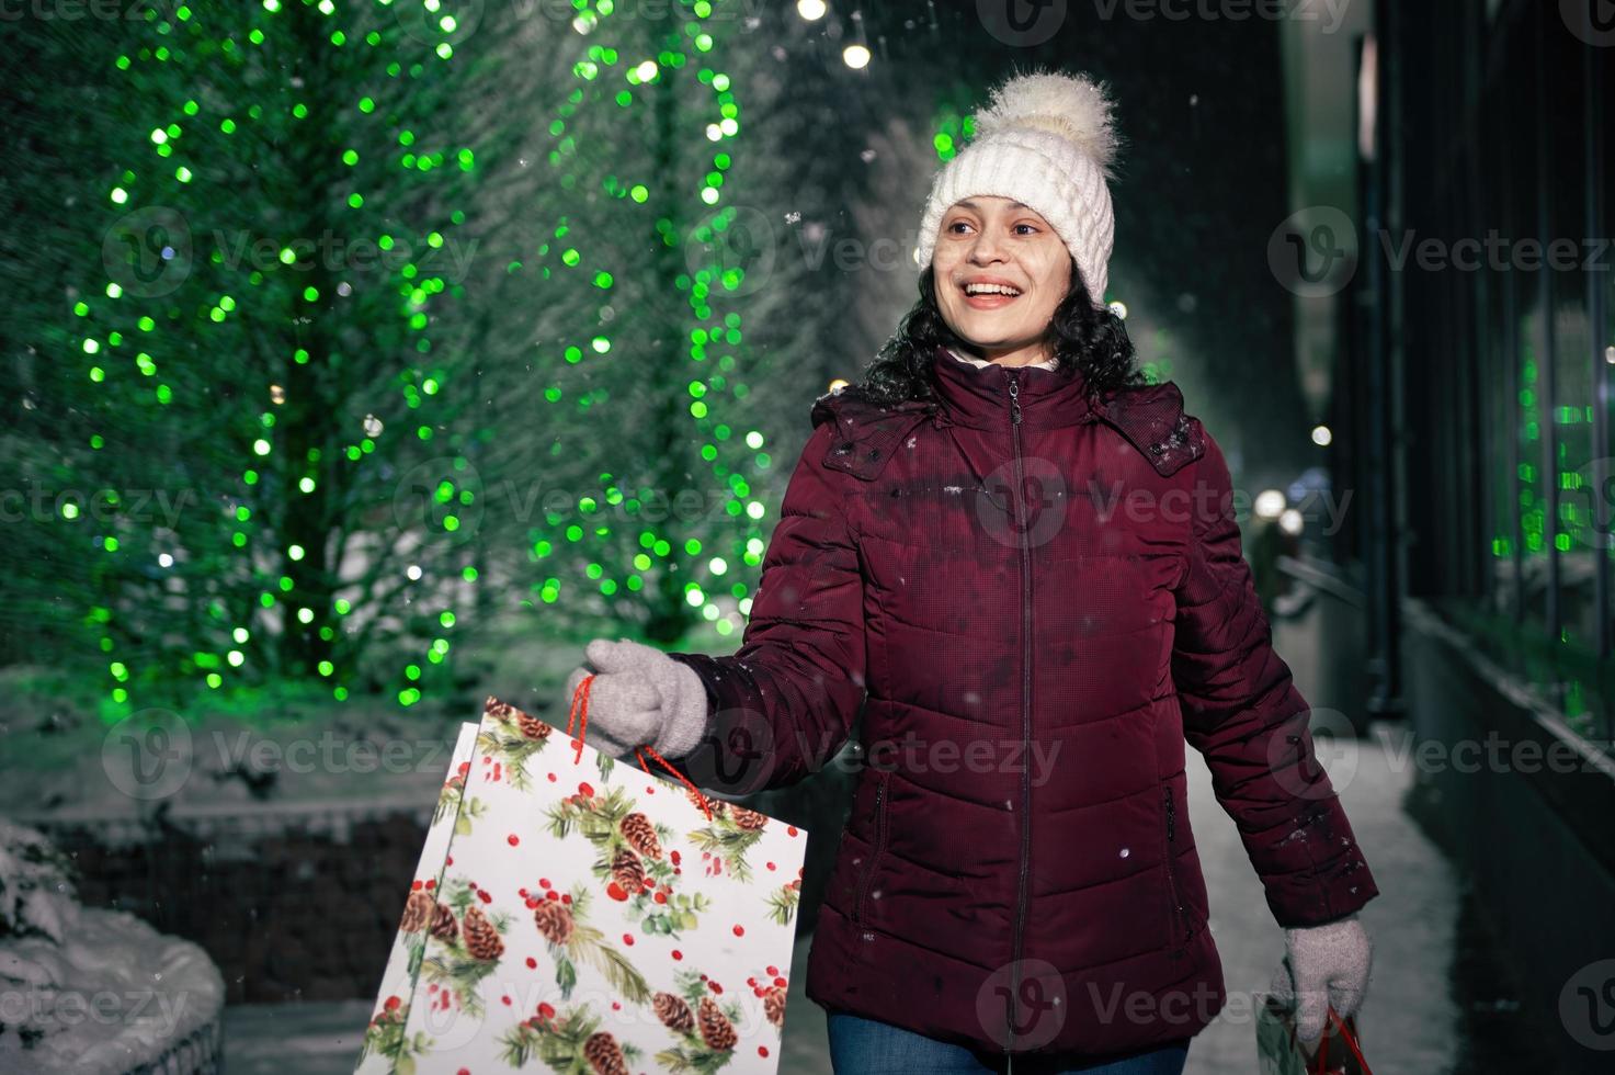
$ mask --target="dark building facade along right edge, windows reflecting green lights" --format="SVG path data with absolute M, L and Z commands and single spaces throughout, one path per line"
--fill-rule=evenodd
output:
M 1565 1070 L 1615 1049 L 1615 10 L 1376 5 L 1339 483 L 1378 698 Z

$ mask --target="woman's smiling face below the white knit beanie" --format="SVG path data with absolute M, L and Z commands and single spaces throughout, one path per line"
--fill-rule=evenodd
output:
M 1005 365 L 1048 357 L 1043 341 L 1071 289 L 1071 252 L 1038 213 L 1008 197 L 954 202 L 932 270 L 942 318 L 982 357 Z

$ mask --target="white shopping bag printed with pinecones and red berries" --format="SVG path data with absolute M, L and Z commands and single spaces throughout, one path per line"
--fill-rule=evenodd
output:
M 360 1072 L 777 1070 L 806 829 L 497 698 L 439 815 Z

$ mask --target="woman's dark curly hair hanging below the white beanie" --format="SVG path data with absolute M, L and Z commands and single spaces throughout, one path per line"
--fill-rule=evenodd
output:
M 1055 372 L 1063 377 L 1080 372 L 1090 398 L 1148 383 L 1134 365 L 1137 354 L 1127 327 L 1110 307 L 1093 306 L 1076 262 L 1071 265 L 1071 291 L 1055 307 L 1047 338 L 1055 344 Z M 919 302 L 880 346 L 858 388 L 877 403 L 917 399 L 938 406 L 932 360 L 940 346 L 969 348 L 942 318 L 935 270 L 927 265 L 919 276 Z

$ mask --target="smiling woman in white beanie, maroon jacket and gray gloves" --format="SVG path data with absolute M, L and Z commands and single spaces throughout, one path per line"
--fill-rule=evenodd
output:
M 1181 1072 L 1226 999 L 1185 740 L 1286 928 L 1300 1036 L 1366 988 L 1374 881 L 1223 453 L 1100 304 L 1111 108 L 1009 79 L 938 173 L 921 301 L 816 401 L 741 648 L 586 650 L 598 745 L 761 740 L 751 789 L 817 771 L 862 713 L 806 986 L 837 1072 Z

